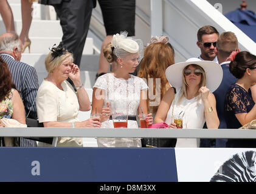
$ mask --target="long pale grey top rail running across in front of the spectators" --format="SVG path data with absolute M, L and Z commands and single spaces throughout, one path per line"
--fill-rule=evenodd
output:
M 254 129 L 89 129 L 89 128 L 10 128 L 0 130 L 5 137 L 58 137 L 87 138 L 209 138 L 209 139 L 256 139 Z

